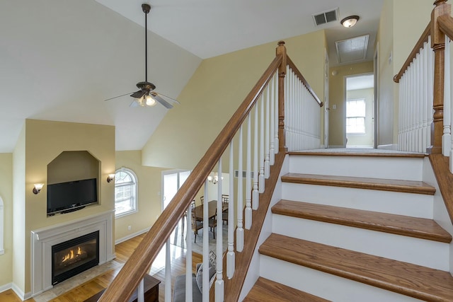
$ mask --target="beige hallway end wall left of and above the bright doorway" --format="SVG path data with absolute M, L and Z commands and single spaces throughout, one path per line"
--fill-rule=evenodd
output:
M 336 71 L 333 76 L 332 72 Z M 329 74 L 329 145 L 331 147 L 345 146 L 345 78 L 355 74 L 373 72 L 373 62 L 336 66 Z M 336 105 L 336 109 L 333 109 Z

